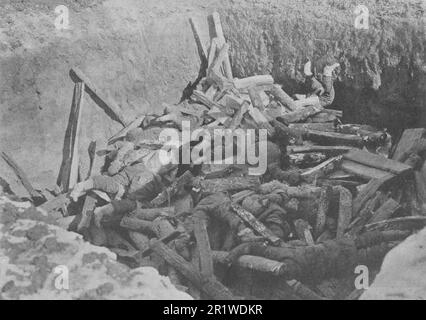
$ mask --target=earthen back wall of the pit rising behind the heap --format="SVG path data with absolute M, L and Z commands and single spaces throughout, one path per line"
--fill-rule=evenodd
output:
M 38 188 L 52 188 L 72 100 L 77 65 L 131 117 L 177 103 L 196 81 L 200 59 L 190 17 L 209 39 L 208 14 L 221 14 L 235 77 L 271 74 L 289 94 L 301 90 L 302 65 L 320 69 L 327 56 L 342 70 L 331 106 L 347 123 L 388 128 L 396 137 L 426 124 L 426 37 L 422 1 L 364 1 L 369 29 L 354 27 L 355 4 L 322 1 L 64 1 L 70 28 L 54 27 L 48 0 L 3 1 L 0 19 L 0 149 L 12 154 Z M 208 42 L 204 43 L 208 46 Z M 80 153 L 120 129 L 90 99 Z M 10 169 L 0 176 L 26 196 Z M 271 298 L 273 278 L 231 273 L 247 296 Z M 352 283 L 346 278 L 336 286 Z M 250 285 L 247 285 L 250 284 Z M 349 288 L 350 286 L 348 286 Z M 346 288 L 347 289 L 347 288 Z M 340 290 L 345 296 L 345 288 Z

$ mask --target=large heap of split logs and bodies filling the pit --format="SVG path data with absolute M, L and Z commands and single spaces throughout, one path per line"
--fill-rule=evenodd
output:
M 234 78 L 217 13 L 213 22 L 216 37 L 207 50 L 191 20 L 202 77 L 186 100 L 164 105 L 161 115 L 126 120 L 81 70 L 71 70 L 69 145 L 54 196 L 34 190 L 11 157 L 3 157 L 41 208 L 71 215 L 72 230 L 111 248 L 126 264 L 155 266 L 194 297 L 249 297 L 225 281 L 237 268 L 276 278 L 275 298 L 328 298 L 318 289 L 322 280 L 353 274 L 360 264 L 380 265 L 390 248 L 424 227 L 426 130 L 405 130 L 387 150 L 386 132 L 342 124 L 338 110 L 299 107 L 270 75 Z M 77 151 L 84 92 L 123 125 L 106 149 L 90 145 L 87 177 L 79 173 Z M 248 175 L 248 165 L 179 165 L 148 201 L 137 201 L 108 225 L 97 221 L 96 208 L 114 197 L 133 201 L 128 186 L 91 190 L 71 201 L 78 181 L 148 166 L 146 159 L 163 145 L 155 128 L 181 130 L 183 120 L 206 130 L 266 129 L 268 155 L 278 150 L 278 157 L 262 176 Z M 138 137 L 130 139 L 134 132 Z M 99 165 L 105 154 L 109 167 Z

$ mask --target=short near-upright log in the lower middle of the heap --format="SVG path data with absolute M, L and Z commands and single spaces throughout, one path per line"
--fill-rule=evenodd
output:
M 214 270 L 210 241 L 207 234 L 206 218 L 203 212 L 197 212 L 197 215 L 194 216 L 194 235 L 197 241 L 200 273 L 203 278 L 211 278 L 214 276 Z

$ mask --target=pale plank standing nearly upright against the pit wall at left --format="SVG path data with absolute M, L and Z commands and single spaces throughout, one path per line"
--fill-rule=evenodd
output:
M 81 114 L 83 113 L 83 105 L 84 105 L 84 83 L 83 82 L 77 82 L 74 85 L 74 98 L 73 98 L 73 106 L 71 107 L 71 110 L 74 110 L 75 112 L 75 118 L 73 118 L 74 122 L 74 128 L 75 130 L 72 131 L 71 136 L 71 166 L 70 166 L 70 173 L 69 173 L 69 179 L 68 179 L 68 188 L 66 191 L 74 188 L 74 186 L 78 182 L 78 167 L 79 167 L 79 141 L 80 141 L 80 124 L 81 124 Z

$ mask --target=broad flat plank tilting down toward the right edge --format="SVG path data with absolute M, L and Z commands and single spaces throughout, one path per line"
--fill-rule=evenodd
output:
M 381 155 L 365 150 L 353 149 L 343 156 L 344 159 L 357 162 L 372 168 L 388 171 L 394 174 L 402 174 L 412 170 L 412 168 L 401 162 L 387 159 Z

